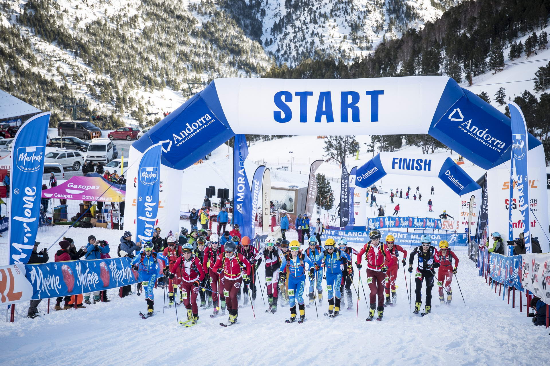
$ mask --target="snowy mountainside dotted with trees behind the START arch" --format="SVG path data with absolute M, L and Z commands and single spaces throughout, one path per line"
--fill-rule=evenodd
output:
M 4 0 L 0 88 L 67 118 L 63 97 L 103 128 L 145 125 L 212 78 L 261 76 L 316 56 L 350 61 L 461 0 Z M 36 86 L 40 88 L 36 91 Z

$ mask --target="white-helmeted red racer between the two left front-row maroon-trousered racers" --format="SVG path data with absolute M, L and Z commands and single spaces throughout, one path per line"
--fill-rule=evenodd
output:
M 222 315 L 226 314 L 226 298 L 223 296 L 223 276 L 213 269 L 218 255 L 223 254 L 223 252 L 223 245 L 219 244 L 219 235 L 210 235 L 210 245 L 205 249 L 205 260 L 202 262 L 202 268 L 208 274 L 208 277 L 210 277 L 210 288 L 212 289 L 212 302 L 214 306 L 214 312 L 210 316 L 212 318 L 218 315 L 220 308 L 222 309 Z

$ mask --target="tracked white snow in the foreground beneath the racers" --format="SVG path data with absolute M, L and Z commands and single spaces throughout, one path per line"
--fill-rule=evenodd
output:
M 201 324 L 185 329 L 176 323 L 175 308 L 162 313 L 163 289 L 155 290 L 155 306 L 159 313 L 146 320 L 138 315 L 146 309 L 143 296 L 120 299 L 118 289 L 112 289 L 109 290 L 111 302 L 87 305 L 86 309 L 56 312 L 52 299 L 50 314 L 42 314 L 36 319 L 24 317 L 28 303 L 18 304 L 16 322 L 0 325 L 3 345 L 0 359 L 3 365 L 75 361 L 81 365 L 97 365 L 130 359 L 142 365 L 340 362 L 346 365 L 420 365 L 448 364 L 451 360 L 461 365 L 545 364 L 549 353 L 540 346 L 547 344 L 548 330 L 531 325 L 525 308 L 520 313 L 518 307 L 513 309 L 502 301 L 498 291 L 495 295 L 485 280 L 478 277 L 477 268 L 465 252 L 457 255 L 460 258 L 458 278 L 467 306 L 453 279 L 452 305 L 434 307 L 433 312 L 423 318 L 409 313 L 402 268 L 399 268 L 397 279 L 397 306 L 386 308 L 382 322 L 371 323 L 365 322 L 367 307 L 362 297 L 359 318 L 355 317 L 355 293 L 353 311 L 346 310 L 345 305 L 339 317 L 324 317 L 322 313 L 328 305 L 326 290 L 323 290 L 323 304 L 317 308 L 320 318 L 316 317 L 315 307 L 306 308 L 304 324 L 284 323 L 289 317 L 288 306 L 279 307 L 276 314 L 266 314 L 267 306 L 263 305 L 259 293 L 256 319 L 250 307 L 242 308 L 239 309 L 239 324 L 222 328 L 218 323 L 227 323 L 227 315 L 212 319 L 209 317 L 211 309 L 199 308 Z M 261 271 L 262 281 L 263 275 Z M 365 272 L 362 275 L 365 283 Z M 408 272 L 406 277 L 408 282 Z M 357 286 L 357 277 L 354 283 Z M 412 284 L 414 286 L 414 282 Z M 324 283 L 323 286 L 326 288 Z M 362 292 L 360 288 L 359 291 Z M 368 296 L 367 287 L 365 291 Z M 436 305 L 437 286 L 432 296 L 432 305 Z M 305 300 L 307 302 L 307 297 Z M 42 301 L 41 312 L 46 311 L 46 305 L 47 300 Z M 516 305 L 519 305 L 518 296 Z M 178 306 L 178 316 L 179 319 L 185 317 L 184 306 Z

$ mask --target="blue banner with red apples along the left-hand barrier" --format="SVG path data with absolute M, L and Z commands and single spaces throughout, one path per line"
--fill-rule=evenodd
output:
M 138 272 L 131 268 L 130 261 L 123 257 L 25 264 L 25 277 L 32 286 L 32 300 L 86 294 L 138 283 Z M 158 277 L 162 277 L 162 261 L 158 267 Z

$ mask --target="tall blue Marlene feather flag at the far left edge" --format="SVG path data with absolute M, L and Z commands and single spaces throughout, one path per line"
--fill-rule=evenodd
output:
M 9 264 L 26 264 L 34 247 L 49 123 L 50 112 L 31 117 L 19 128 L 12 143 Z

